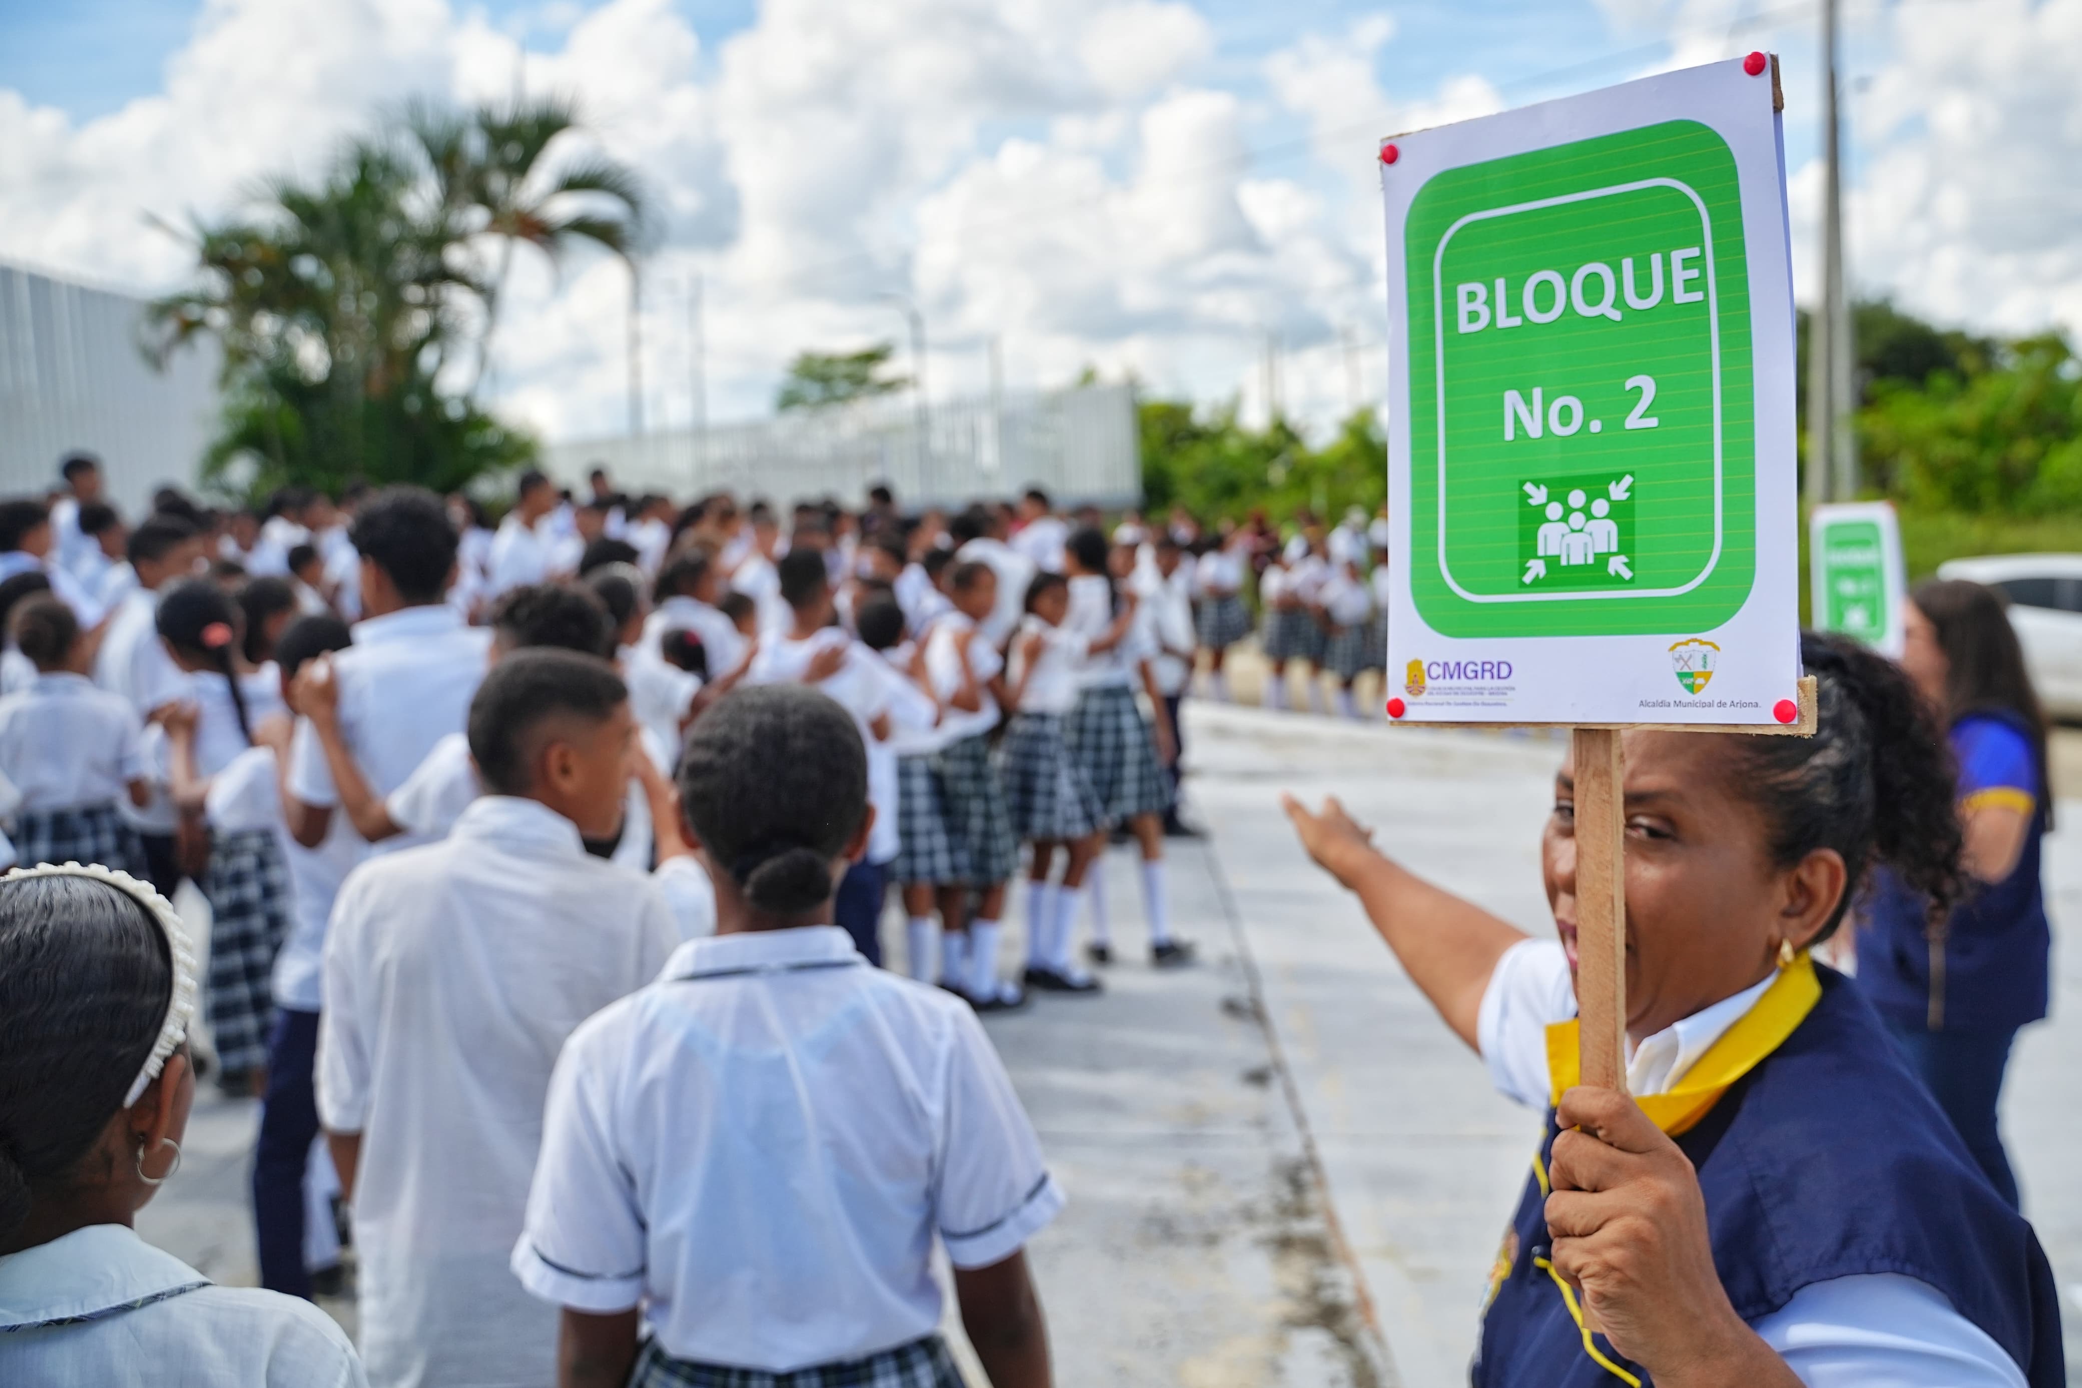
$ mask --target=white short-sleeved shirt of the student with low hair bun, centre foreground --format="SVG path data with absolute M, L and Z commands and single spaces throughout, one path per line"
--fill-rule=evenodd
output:
M 564 1047 L 512 1267 L 783 1373 L 931 1334 L 935 1236 L 989 1267 L 1062 1203 L 968 1007 L 837 926 L 727 934 Z

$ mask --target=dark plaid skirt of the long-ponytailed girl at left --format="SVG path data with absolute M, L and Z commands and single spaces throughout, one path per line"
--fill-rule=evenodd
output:
M 206 1011 L 225 1072 L 266 1063 L 275 1020 L 269 974 L 289 932 L 289 859 L 271 828 L 210 834 L 210 986 Z

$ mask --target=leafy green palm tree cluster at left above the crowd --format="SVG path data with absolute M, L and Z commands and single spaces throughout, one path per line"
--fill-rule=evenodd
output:
M 421 104 L 319 181 L 269 181 L 239 214 L 196 223 L 196 285 L 152 304 L 144 348 L 223 345 L 204 477 L 252 493 L 352 479 L 446 491 L 533 458 L 475 397 L 512 248 L 627 258 L 641 231 L 627 169 L 550 150 L 575 129 L 562 102 Z

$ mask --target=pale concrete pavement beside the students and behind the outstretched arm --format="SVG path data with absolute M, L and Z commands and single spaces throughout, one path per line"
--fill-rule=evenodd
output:
M 1559 749 L 1191 708 L 1189 799 L 1212 837 L 1172 843 L 1170 880 L 1201 963 L 1141 961 L 1133 855 L 1116 849 L 1124 961 L 1108 993 L 989 1022 L 1070 1192 L 1031 1249 L 1058 1382 L 1464 1380 L 1539 1115 L 1489 1090 L 1355 903 L 1301 857 L 1278 793 L 1343 797 L 1389 851 L 1545 930 L 1537 841 Z M 2057 1013 L 2020 1040 L 2003 1111 L 2082 1346 L 2082 801 L 2061 809 L 2047 853 Z M 885 934 L 902 936 L 895 916 Z M 1010 934 L 1008 963 L 1022 949 Z M 227 1282 L 252 1280 L 250 1107 L 198 1105 L 183 1174 L 139 1222 Z

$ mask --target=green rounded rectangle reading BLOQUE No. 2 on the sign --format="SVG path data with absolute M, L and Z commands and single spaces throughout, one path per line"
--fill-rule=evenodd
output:
M 1741 189 L 1697 121 L 1466 164 L 1407 214 L 1412 599 L 1447 637 L 1689 635 L 1755 579 Z

